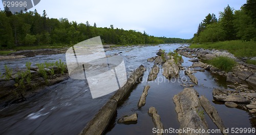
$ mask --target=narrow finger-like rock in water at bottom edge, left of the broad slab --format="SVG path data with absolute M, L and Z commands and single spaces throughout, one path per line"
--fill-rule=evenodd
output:
M 152 120 L 154 122 L 155 128 L 159 130 L 163 130 L 163 124 L 161 122 L 160 116 L 157 114 L 157 109 L 155 107 L 150 107 L 148 109 L 148 115 L 152 117 Z M 163 133 L 156 133 L 156 134 L 163 134 Z

